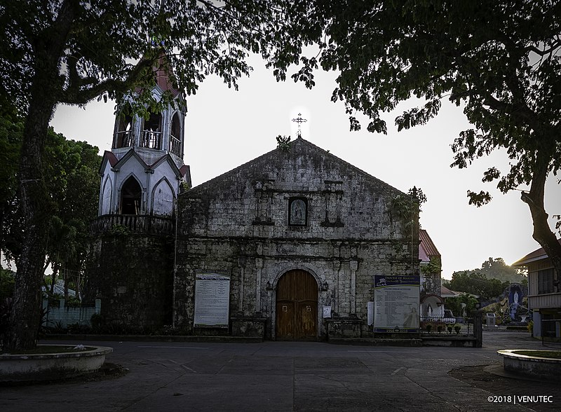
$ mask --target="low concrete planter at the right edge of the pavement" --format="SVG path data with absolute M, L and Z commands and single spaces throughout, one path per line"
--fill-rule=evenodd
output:
M 561 359 L 519 355 L 520 349 L 497 350 L 503 357 L 505 371 L 532 378 L 561 380 Z

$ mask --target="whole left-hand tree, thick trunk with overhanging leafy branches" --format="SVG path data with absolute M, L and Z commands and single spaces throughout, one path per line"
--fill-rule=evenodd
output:
M 259 53 L 280 73 L 299 55 L 295 16 L 302 7 L 288 0 L 29 0 L 0 6 L 0 102 L 13 102 L 25 118 L 19 184 L 26 230 L 8 350 L 36 344 L 48 233 L 43 149 L 55 106 L 96 97 L 122 102 L 135 92 L 135 110 L 158 110 L 170 96 L 154 101 L 156 69 L 168 69 L 187 94 L 209 74 L 236 88 L 236 79 L 251 71 L 249 53 Z

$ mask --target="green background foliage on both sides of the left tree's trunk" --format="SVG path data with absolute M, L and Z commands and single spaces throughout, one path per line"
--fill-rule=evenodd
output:
M 18 191 L 18 153 L 22 142 L 22 123 L 0 116 L 0 147 L 12 163 L 2 170 L 0 201 L 0 251 L 18 266 L 24 241 L 21 194 Z M 43 268 L 51 266 L 53 277 L 83 271 L 88 248 L 89 221 L 97 216 L 99 203 L 99 149 L 86 142 L 66 139 L 49 128 L 45 145 L 43 174 L 48 192 L 47 247 Z M 69 278 L 68 281 L 73 279 Z M 79 286 L 79 285 L 76 285 Z

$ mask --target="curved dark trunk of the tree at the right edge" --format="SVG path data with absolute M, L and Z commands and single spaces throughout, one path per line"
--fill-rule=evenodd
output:
M 536 166 L 532 173 L 532 186 L 530 186 L 529 193 L 522 192 L 521 198 L 526 202 L 532 214 L 532 221 L 534 223 L 534 233 L 532 237 L 538 242 L 546 254 L 549 256 L 555 272 L 557 273 L 557 280 L 561 277 L 561 245 L 555 237 L 555 233 L 551 231 L 548 224 L 548 214 L 543 208 L 543 195 L 546 188 L 547 167 L 541 161 L 541 156 L 538 153 Z

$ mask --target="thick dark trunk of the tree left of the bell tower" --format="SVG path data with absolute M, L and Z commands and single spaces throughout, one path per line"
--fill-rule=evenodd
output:
M 41 325 L 41 280 L 48 231 L 48 195 L 42 175 L 48 123 L 63 88 L 60 57 L 74 20 L 76 1 L 65 1 L 51 27 L 34 39 L 36 53 L 20 158 L 20 191 L 25 234 L 15 278 L 13 306 L 4 350 L 34 348 Z

